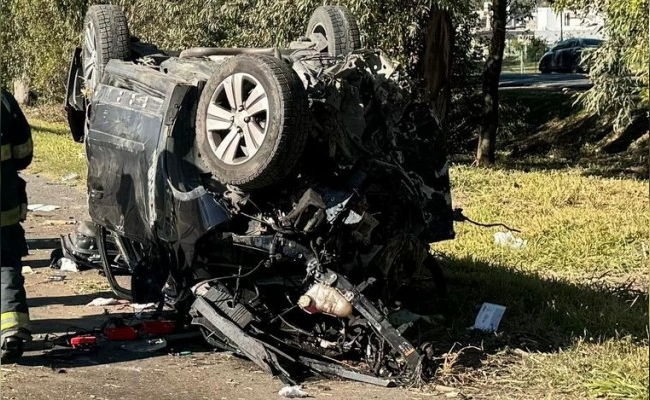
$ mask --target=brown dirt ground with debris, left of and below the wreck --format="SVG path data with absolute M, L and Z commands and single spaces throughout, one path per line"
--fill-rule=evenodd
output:
M 52 183 L 26 175 L 30 204 L 60 206 L 31 212 L 24 224 L 28 238 L 57 237 L 87 218 L 83 187 Z M 89 307 L 96 297 L 113 297 L 97 271 L 67 272 L 49 268 L 51 250 L 32 250 L 24 265 L 34 340 L 17 364 L 2 365 L 2 399 L 270 399 L 281 398 L 282 382 L 247 360 L 205 347 L 202 338 L 169 343 L 155 353 L 133 353 L 105 342 L 93 354 L 53 358 L 46 335 L 92 329 L 109 315 L 130 313 L 128 305 Z M 61 281 L 51 276 L 65 275 Z M 176 354 L 176 355 L 175 355 Z M 183 354 L 183 355 L 178 355 Z M 312 398 L 432 399 L 463 397 L 457 392 L 381 388 L 350 381 L 317 378 L 304 384 Z

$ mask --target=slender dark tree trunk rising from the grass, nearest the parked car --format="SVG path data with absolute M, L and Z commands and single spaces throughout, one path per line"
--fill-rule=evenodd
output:
M 494 163 L 499 127 L 499 76 L 506 43 L 507 0 L 492 1 L 492 39 L 483 68 L 483 123 L 478 137 L 476 162 L 479 166 Z

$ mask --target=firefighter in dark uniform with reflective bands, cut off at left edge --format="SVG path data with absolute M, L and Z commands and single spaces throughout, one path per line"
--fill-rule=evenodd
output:
M 20 225 L 27 215 L 25 181 L 18 172 L 32 162 L 32 134 L 25 115 L 11 93 L 2 89 L 2 253 L 0 261 L 2 362 L 11 362 L 23 354 L 25 341 L 31 340 L 29 311 L 22 275 L 23 256 L 27 255 L 25 231 Z

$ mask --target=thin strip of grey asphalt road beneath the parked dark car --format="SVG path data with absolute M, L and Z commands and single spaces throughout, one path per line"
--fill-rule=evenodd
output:
M 512 72 L 501 73 L 499 87 L 502 89 L 536 88 L 536 89 L 572 89 L 586 90 L 592 86 L 584 74 L 519 74 Z

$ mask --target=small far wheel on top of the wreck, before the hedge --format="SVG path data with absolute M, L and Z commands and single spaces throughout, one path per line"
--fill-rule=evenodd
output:
M 306 36 L 320 33 L 328 41 L 327 53 L 346 55 L 361 48 L 361 33 L 356 19 L 343 6 L 320 6 L 309 19 Z

